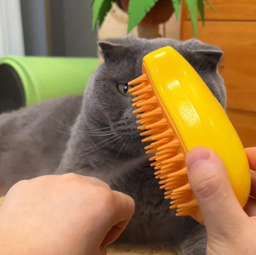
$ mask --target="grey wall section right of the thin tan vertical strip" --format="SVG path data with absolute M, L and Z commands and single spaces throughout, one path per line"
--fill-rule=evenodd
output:
M 50 55 L 97 55 L 97 30 L 91 30 L 90 2 L 91 0 L 46 1 Z

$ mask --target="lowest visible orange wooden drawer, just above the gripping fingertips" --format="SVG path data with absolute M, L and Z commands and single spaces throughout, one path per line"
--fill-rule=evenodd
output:
M 244 111 L 227 111 L 243 146 L 256 146 L 256 113 Z

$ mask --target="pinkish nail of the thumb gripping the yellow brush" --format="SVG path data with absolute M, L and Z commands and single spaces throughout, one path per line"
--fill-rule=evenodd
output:
M 196 147 L 188 152 L 185 163 L 188 170 L 193 168 L 200 160 L 208 160 L 210 158 L 210 151 L 204 147 Z

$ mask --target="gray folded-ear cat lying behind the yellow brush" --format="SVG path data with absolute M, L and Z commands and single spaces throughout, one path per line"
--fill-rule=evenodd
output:
M 120 242 L 168 242 L 182 255 L 206 253 L 205 228 L 191 217 L 176 217 L 163 199 L 132 114 L 127 82 L 141 75 L 142 57 L 172 46 L 195 68 L 225 108 L 217 71 L 222 51 L 191 39 L 99 42 L 104 63 L 90 78 L 84 96 L 45 101 L 0 116 L 0 185 L 51 173 L 94 176 L 135 199 L 135 214 Z M 99 201 L 100 203 L 100 201 Z

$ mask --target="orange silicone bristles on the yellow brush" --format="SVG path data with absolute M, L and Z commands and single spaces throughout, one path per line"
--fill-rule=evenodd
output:
M 144 74 L 128 85 L 135 85 L 129 92 L 134 98 L 133 111 L 142 142 L 150 142 L 145 147 L 150 157 L 150 166 L 155 169 L 160 189 L 165 190 L 165 199 L 171 199 L 170 209 L 176 209 L 176 216 L 193 215 L 199 211 L 196 199 L 188 183 L 185 167 L 185 150 L 171 117 L 162 104 L 144 65 Z

